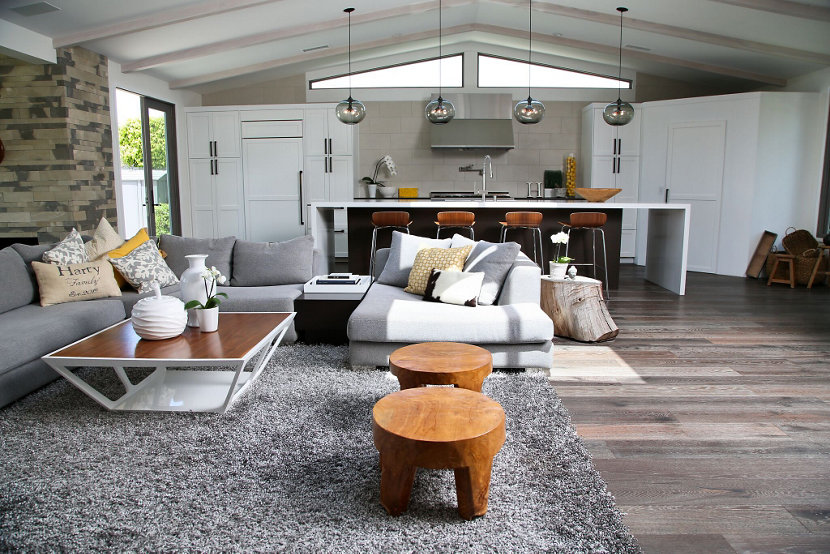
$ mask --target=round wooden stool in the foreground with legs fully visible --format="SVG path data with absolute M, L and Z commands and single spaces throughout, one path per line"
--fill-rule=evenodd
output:
M 406 511 L 418 467 L 455 470 L 464 519 L 487 512 L 493 457 L 506 436 L 498 402 L 466 389 L 408 389 L 381 398 L 372 418 L 380 503 L 390 515 Z

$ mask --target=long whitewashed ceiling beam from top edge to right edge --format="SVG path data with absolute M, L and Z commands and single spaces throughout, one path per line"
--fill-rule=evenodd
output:
M 523 0 L 491 0 L 499 4 L 508 4 L 518 6 L 523 4 Z M 734 4 L 754 4 L 756 0 L 713 0 L 723 1 Z M 779 0 L 772 0 L 778 3 Z M 788 2 L 783 2 L 788 3 Z M 793 2 L 789 2 L 792 4 Z M 799 4 L 802 5 L 803 4 Z M 583 10 L 581 8 L 572 8 L 570 6 L 562 6 L 559 4 L 542 4 L 537 3 L 534 9 L 541 13 L 551 15 L 559 15 L 563 17 L 570 17 L 574 19 L 582 19 L 584 21 L 591 21 L 594 23 L 602 23 L 605 25 L 613 25 L 615 27 L 620 24 L 620 17 L 618 15 L 605 14 L 594 12 L 590 10 Z M 826 10 L 830 12 L 830 10 Z M 631 12 L 629 12 L 631 13 Z M 707 33 L 704 31 L 695 31 L 686 27 L 676 27 L 674 25 L 663 25 L 662 23 L 654 23 L 643 19 L 636 19 L 632 17 L 625 18 L 626 29 L 637 29 L 647 33 L 655 33 L 659 35 L 670 36 L 674 38 L 682 38 L 695 42 L 703 42 L 706 44 L 713 44 L 715 46 L 723 46 L 726 48 L 735 48 L 738 50 L 745 50 L 749 52 L 756 52 L 767 56 L 783 57 L 803 62 L 817 63 L 821 65 L 830 65 L 830 55 L 819 52 L 810 52 L 807 50 L 798 50 L 796 48 L 786 48 L 774 44 L 767 44 L 764 42 L 757 42 L 754 40 L 744 40 L 725 35 L 718 35 L 715 33 Z

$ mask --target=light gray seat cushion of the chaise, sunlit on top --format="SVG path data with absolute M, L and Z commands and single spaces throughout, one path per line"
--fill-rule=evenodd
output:
M 553 322 L 538 303 L 467 308 L 375 283 L 349 318 L 348 335 L 366 342 L 538 343 L 551 340 Z

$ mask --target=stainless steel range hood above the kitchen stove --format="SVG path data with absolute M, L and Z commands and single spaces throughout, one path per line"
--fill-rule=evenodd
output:
M 513 140 L 513 100 L 509 94 L 447 95 L 455 106 L 455 119 L 430 125 L 433 148 L 489 148 L 508 150 Z

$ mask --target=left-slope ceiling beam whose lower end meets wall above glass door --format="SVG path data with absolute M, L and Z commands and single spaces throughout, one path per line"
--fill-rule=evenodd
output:
M 449 7 L 459 7 L 472 4 L 474 2 L 475 0 L 448 0 L 447 2 L 444 2 L 444 5 Z M 365 23 L 375 23 L 379 21 L 384 21 L 396 17 L 418 15 L 437 8 L 438 3 L 435 0 L 428 0 L 427 2 L 422 2 L 418 4 L 403 5 L 388 10 L 369 12 L 365 14 L 359 14 L 358 12 L 355 12 L 352 15 L 352 24 L 361 25 Z M 194 46 L 193 48 L 186 48 L 184 50 L 179 50 L 177 52 L 169 52 L 167 54 L 160 54 L 158 56 L 150 56 L 132 62 L 127 62 L 121 65 L 121 71 L 123 71 L 124 73 L 144 71 L 146 69 L 151 69 L 153 67 L 158 67 L 160 65 L 202 58 L 205 56 L 210 56 L 212 54 L 219 54 L 231 50 L 238 50 L 240 48 L 247 48 L 250 46 L 256 46 L 258 44 L 275 42 L 278 40 L 285 40 L 289 38 L 303 36 L 309 33 L 333 31 L 335 29 L 345 27 L 346 24 L 346 18 L 338 17 L 337 19 L 323 21 L 320 23 L 312 23 L 310 25 L 303 25 L 299 27 L 292 27 L 290 29 L 277 29 L 265 33 L 258 33 L 255 35 L 212 42 L 210 44 Z M 331 52 L 331 50 L 328 50 L 328 52 Z

